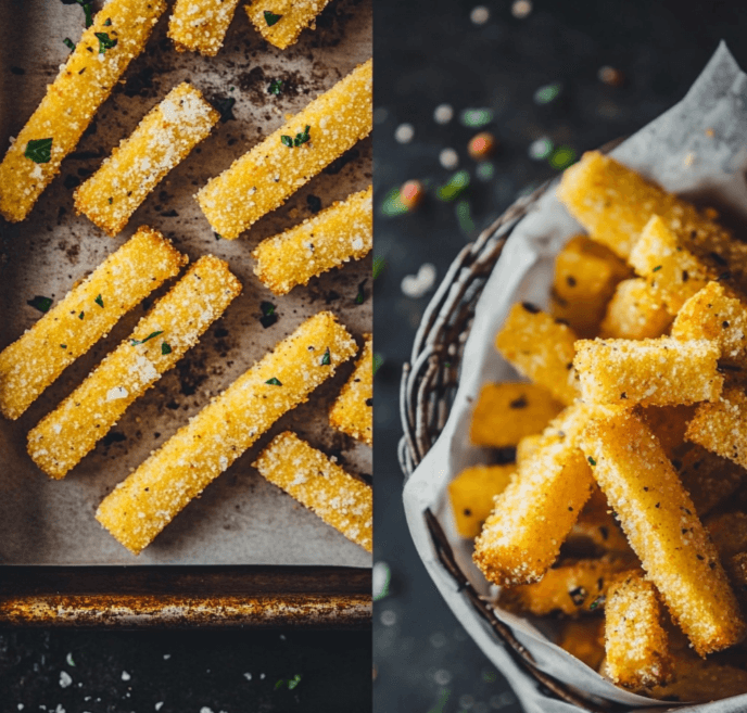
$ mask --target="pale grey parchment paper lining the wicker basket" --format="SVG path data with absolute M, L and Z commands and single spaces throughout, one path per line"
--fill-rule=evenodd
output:
M 706 132 L 708 129 L 712 131 Z M 656 180 L 670 191 L 701 205 L 714 205 L 722 218 L 747 234 L 747 76 L 722 43 L 687 96 L 659 118 L 620 144 L 611 155 Z M 430 508 L 444 527 L 465 571 L 478 591 L 493 596 L 488 582 L 472 564 L 472 543 L 456 534 L 447 483 L 467 466 L 490 462 L 490 453 L 469 443 L 472 402 L 488 381 L 516 379 L 516 372 L 494 346 L 495 334 L 517 301 L 547 306 L 556 253 L 580 230 L 548 191 L 516 227 L 480 297 L 472 331 L 465 345 L 461 380 L 448 421 L 438 442 L 405 485 L 407 522 L 426 568 L 459 621 L 485 654 L 507 675 L 528 711 L 556 713 L 575 710 L 547 699 L 523 674 L 466 597 L 456 590 L 433 551 L 422 512 Z M 465 368 L 469 365 L 469 368 Z M 658 703 L 615 687 L 570 655 L 527 619 L 499 611 L 517 638 L 531 651 L 541 670 L 582 691 L 629 704 L 631 708 L 672 705 Z M 661 710 L 651 708 L 650 710 Z M 689 709 L 686 709 L 689 710 Z M 747 710 L 747 695 L 695 709 L 705 713 Z

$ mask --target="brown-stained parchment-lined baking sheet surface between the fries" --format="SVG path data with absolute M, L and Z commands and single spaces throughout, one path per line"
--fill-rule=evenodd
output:
M 26 454 L 26 434 L 129 334 L 153 298 L 127 315 L 112 333 L 63 375 L 17 421 L 0 419 L 0 562 L 4 564 L 333 564 L 370 566 L 370 555 L 327 526 L 290 496 L 267 483 L 253 457 L 273 435 L 297 432 L 350 472 L 371 474 L 370 449 L 333 431 L 327 411 L 353 369 L 338 374 L 283 417 L 134 557 L 93 519 L 99 502 L 127 474 L 183 425 L 210 399 L 243 373 L 304 319 L 331 309 L 362 344 L 371 330 L 371 256 L 275 297 L 253 275 L 251 251 L 259 240 L 327 207 L 371 181 L 370 139 L 313 179 L 286 205 L 256 222 L 241 239 L 216 239 L 193 194 L 213 176 L 274 131 L 286 114 L 302 110 L 371 55 L 371 0 L 332 0 L 299 42 L 284 50 L 267 44 L 251 26 L 243 2 L 223 50 L 215 58 L 177 53 L 166 37 L 173 2 L 159 21 L 145 52 L 134 60 L 98 112 L 76 153 L 42 193 L 29 217 L 9 225 L 0 218 L 0 349 L 38 318 L 26 304 L 35 295 L 61 298 L 140 225 L 172 239 L 190 262 L 206 253 L 228 260 L 243 293 L 155 386 L 138 399 L 105 442 L 100 442 L 63 481 L 52 481 Z M 97 9 L 100 7 L 97 5 Z M 60 0 L 0 3 L 0 145 L 22 128 L 46 85 L 68 55 L 62 40 L 77 41 L 83 9 Z M 189 79 L 208 99 L 235 98 L 232 120 L 219 123 L 156 187 L 116 239 L 85 216 L 75 216 L 76 182 L 96 170 L 121 139 L 177 84 Z M 267 92 L 271 79 L 286 85 Z M 366 278 L 366 300 L 355 304 Z M 277 305 L 278 321 L 264 329 L 259 305 Z

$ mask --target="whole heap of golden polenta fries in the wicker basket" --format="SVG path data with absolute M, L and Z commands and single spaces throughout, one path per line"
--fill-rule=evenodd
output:
M 613 683 L 747 692 L 747 245 L 596 152 L 558 198 L 587 234 L 549 313 L 515 304 L 497 335 L 531 383 L 484 385 L 470 438 L 516 458 L 452 481 L 457 531 L 499 606 L 559 615 Z

